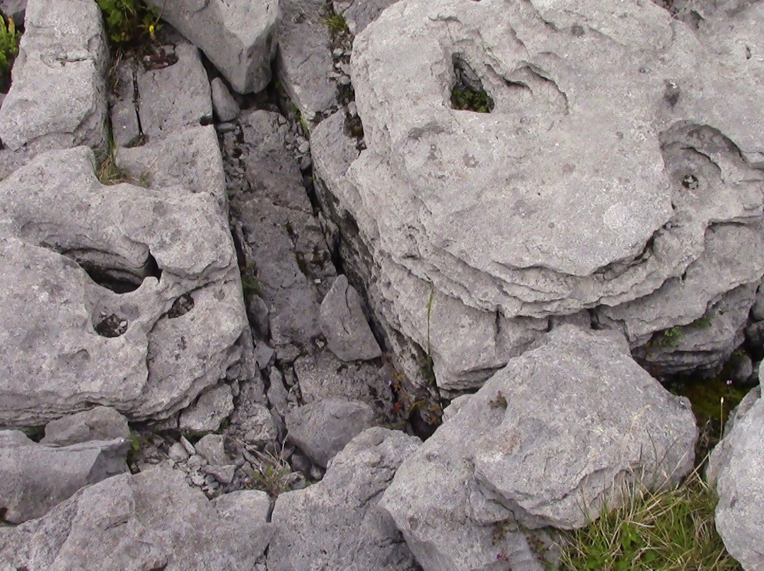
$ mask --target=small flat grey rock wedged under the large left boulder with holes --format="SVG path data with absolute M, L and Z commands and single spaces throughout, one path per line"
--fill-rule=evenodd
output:
M 114 408 L 97 406 L 75 415 L 66 415 L 45 425 L 41 444 L 66 446 L 89 440 L 129 438 L 128 419 Z

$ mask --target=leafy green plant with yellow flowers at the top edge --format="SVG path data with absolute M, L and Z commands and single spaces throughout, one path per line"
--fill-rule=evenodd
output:
M 98 0 L 109 40 L 117 47 L 133 47 L 156 40 L 159 13 L 141 0 Z

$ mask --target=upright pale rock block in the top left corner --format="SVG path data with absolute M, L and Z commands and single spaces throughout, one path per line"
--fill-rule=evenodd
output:
M 106 150 L 108 50 L 91 0 L 30 0 L 0 137 L 12 151 Z

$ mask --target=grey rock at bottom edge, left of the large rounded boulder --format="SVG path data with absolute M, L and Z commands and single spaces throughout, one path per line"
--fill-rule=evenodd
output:
M 419 444 L 401 432 L 370 428 L 335 456 L 321 482 L 279 495 L 269 571 L 413 569 L 400 531 L 377 502 Z

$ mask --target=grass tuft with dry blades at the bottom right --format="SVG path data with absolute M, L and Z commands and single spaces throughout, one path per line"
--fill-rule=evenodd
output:
M 700 468 L 674 488 L 633 486 L 623 508 L 563 532 L 560 569 L 569 571 L 727 571 L 740 569 L 714 527 L 717 497 Z

